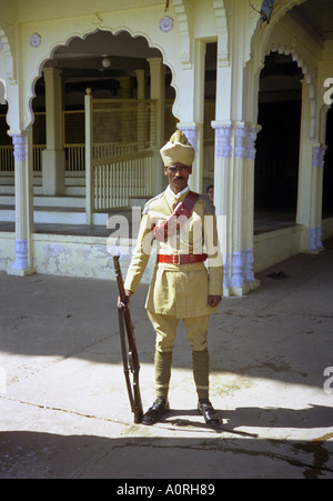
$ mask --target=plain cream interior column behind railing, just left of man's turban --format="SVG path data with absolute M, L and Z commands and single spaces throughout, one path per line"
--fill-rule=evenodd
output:
M 164 186 L 163 164 L 160 149 L 164 143 L 164 97 L 165 97 L 165 68 L 161 58 L 148 59 L 150 64 L 150 99 L 157 101 L 155 116 L 155 144 L 153 159 L 153 193 L 160 193 Z

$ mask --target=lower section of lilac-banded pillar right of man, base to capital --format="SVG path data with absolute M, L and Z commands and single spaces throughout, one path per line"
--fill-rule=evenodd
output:
M 260 127 L 213 121 L 215 129 L 214 204 L 224 258 L 224 295 L 259 287 L 253 273 L 254 158 Z

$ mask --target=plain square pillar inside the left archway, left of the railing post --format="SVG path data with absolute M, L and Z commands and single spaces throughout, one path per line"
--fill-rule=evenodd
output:
M 42 152 L 43 194 L 64 193 L 64 150 L 61 70 L 46 68 L 47 149 Z

